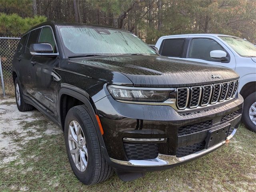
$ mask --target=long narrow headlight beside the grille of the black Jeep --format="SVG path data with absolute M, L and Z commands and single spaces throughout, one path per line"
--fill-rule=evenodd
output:
M 170 98 L 172 88 L 137 88 L 109 85 L 108 91 L 116 100 L 136 102 L 164 102 Z

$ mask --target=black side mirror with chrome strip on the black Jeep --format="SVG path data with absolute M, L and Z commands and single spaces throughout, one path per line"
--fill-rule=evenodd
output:
M 30 45 L 29 50 L 30 50 L 30 54 L 38 57 L 54 58 L 59 55 L 58 53 L 52 53 L 53 48 L 52 48 L 52 45 L 49 43 L 33 43 Z

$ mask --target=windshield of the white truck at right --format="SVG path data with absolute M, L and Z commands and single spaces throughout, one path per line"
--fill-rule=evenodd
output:
M 256 57 L 256 46 L 238 37 L 219 36 L 242 57 Z

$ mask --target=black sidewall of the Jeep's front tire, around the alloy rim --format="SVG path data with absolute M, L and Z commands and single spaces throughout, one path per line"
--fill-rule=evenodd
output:
M 72 120 L 75 120 L 80 124 L 80 126 L 84 132 L 84 137 L 86 139 L 86 146 L 87 146 L 87 150 L 88 150 L 88 164 L 87 164 L 87 168 L 84 172 L 80 172 L 80 170 L 78 170 L 78 168 L 76 168 L 76 165 L 72 159 L 72 156 L 71 156 L 71 153 L 69 150 L 68 127 Z M 92 126 L 94 126 L 92 120 L 91 120 L 91 123 L 92 123 Z M 93 136 L 90 134 L 89 130 L 86 128 L 86 122 L 84 120 L 82 120 L 79 111 L 75 107 L 71 108 L 68 111 L 68 114 L 66 116 L 64 135 L 65 135 L 65 144 L 66 144 L 68 158 L 69 158 L 70 165 L 72 167 L 74 174 L 81 182 L 83 182 L 84 184 L 90 185 L 94 178 L 94 175 L 95 175 L 96 166 L 99 166 L 99 165 L 96 165 L 96 158 L 99 159 L 100 157 L 98 157 L 98 156 L 96 157 L 96 154 L 93 151 L 93 149 L 95 149 L 95 146 L 92 144 L 91 139 L 95 139 L 95 138 L 92 138 Z M 99 147 L 98 150 L 100 151 L 100 145 L 98 145 L 98 147 Z

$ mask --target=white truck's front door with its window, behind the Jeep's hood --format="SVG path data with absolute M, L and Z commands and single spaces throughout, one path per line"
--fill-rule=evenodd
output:
M 212 59 L 210 52 L 212 50 L 223 50 L 227 53 L 228 61 Z M 184 60 L 204 62 L 208 64 L 225 66 L 235 70 L 236 61 L 234 54 L 220 40 L 210 36 L 189 36 L 189 45 Z

